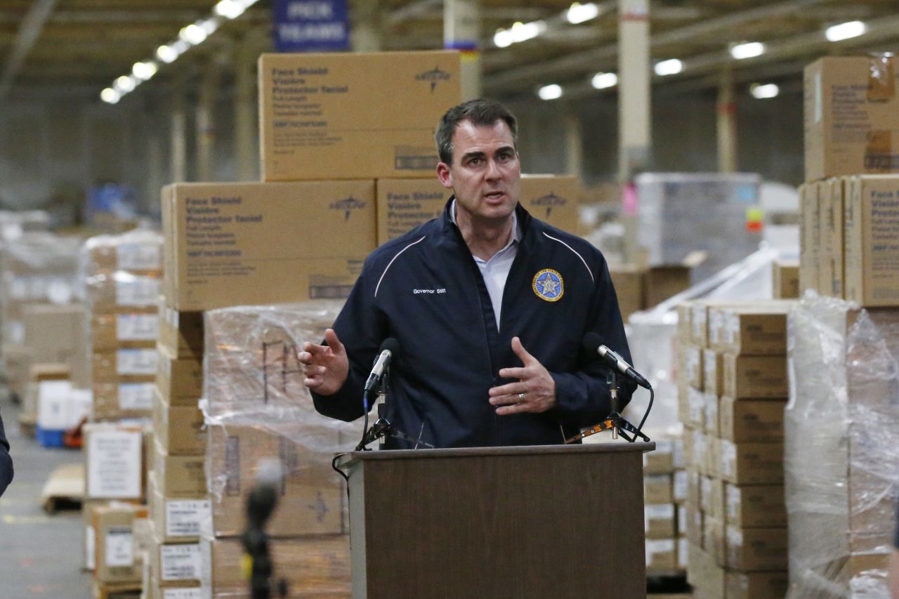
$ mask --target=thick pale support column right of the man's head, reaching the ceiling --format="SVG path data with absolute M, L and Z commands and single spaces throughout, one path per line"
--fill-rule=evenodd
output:
M 652 159 L 649 0 L 619 0 L 619 180 Z

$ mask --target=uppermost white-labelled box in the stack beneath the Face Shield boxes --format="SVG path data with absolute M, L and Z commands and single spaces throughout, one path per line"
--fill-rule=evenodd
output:
M 212 534 L 212 501 L 208 495 L 164 496 L 156 473 L 147 476 L 147 506 L 156 539 L 164 543 L 197 542 Z

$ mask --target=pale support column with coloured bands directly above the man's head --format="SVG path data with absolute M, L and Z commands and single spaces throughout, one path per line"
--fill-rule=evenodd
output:
M 480 0 L 443 3 L 443 47 L 461 53 L 462 100 L 481 97 L 480 4 Z

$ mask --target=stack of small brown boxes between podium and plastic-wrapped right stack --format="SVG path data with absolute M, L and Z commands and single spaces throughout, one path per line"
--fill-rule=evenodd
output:
M 786 592 L 783 420 L 793 303 L 697 300 L 679 308 L 688 576 L 700 596 Z

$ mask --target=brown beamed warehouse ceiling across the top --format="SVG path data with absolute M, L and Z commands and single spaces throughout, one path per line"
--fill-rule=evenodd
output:
M 214 0 L 0 0 L 0 102 L 33 94 L 99 97 L 132 65 L 154 58 L 189 23 L 213 15 Z M 350 0 L 351 19 L 375 14 L 383 49 L 439 49 L 442 0 Z M 570 24 L 568 0 L 482 0 L 485 94 L 535 94 L 562 85 L 566 97 L 603 92 L 590 84 L 599 71 L 615 71 L 618 3 L 598 1 L 599 15 Z M 825 54 L 890 51 L 899 46 L 897 0 L 654 0 L 650 9 L 654 61 L 679 58 L 680 73 L 655 76 L 677 92 L 717 86 L 729 70 L 737 83 L 797 82 L 802 67 Z M 861 21 L 867 32 L 828 41 L 826 28 Z M 494 33 L 515 22 L 543 22 L 542 33 L 506 48 Z M 354 22 L 353 26 L 357 26 Z M 143 85 L 164 89 L 196 76 L 209 64 L 227 66 L 237 52 L 271 49 L 271 0 L 260 0 L 227 21 L 172 64 L 162 64 Z M 765 51 L 736 60 L 729 49 L 759 41 Z M 246 54 L 244 54 L 246 56 Z M 227 69 L 226 69 L 227 70 Z M 136 95 L 142 90 L 138 88 Z

